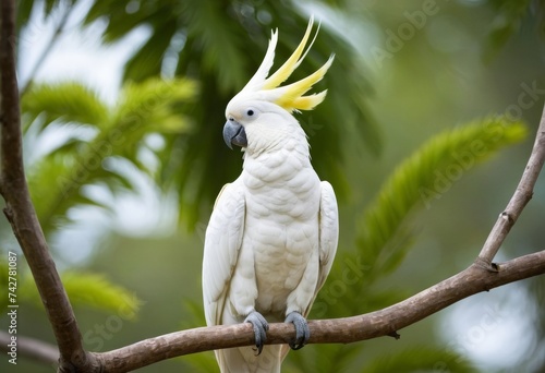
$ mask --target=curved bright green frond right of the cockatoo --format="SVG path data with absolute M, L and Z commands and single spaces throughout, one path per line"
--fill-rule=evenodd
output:
M 521 122 L 488 118 L 435 136 L 398 166 L 359 222 L 356 244 L 372 272 L 383 273 L 384 266 L 377 265 L 379 257 L 405 246 L 391 242 L 415 206 L 429 207 L 465 172 L 525 135 L 526 127 Z M 401 241 L 407 239 L 405 234 Z

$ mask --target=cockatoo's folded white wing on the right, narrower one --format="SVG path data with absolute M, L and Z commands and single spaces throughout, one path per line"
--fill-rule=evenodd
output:
M 337 198 L 330 183 L 322 181 L 319 203 L 319 274 L 314 297 L 326 281 L 334 264 L 339 240 L 339 213 Z

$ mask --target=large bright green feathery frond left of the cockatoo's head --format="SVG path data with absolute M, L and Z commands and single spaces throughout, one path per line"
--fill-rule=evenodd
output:
M 108 208 L 90 200 L 85 186 L 100 183 L 112 192 L 133 189 L 130 177 L 116 168 L 117 159 L 129 160 L 138 170 L 159 178 L 162 169 L 149 167 L 140 152 L 147 149 L 159 157 L 170 149 L 150 148 L 146 136 L 158 134 L 169 144 L 167 137 L 187 134 L 192 121 L 185 111 L 196 92 L 196 85 L 187 80 L 150 79 L 126 84 L 119 103 L 109 107 L 78 83 L 34 86 L 22 100 L 27 132 L 37 133 L 35 142 L 51 125 L 69 134 L 28 167 L 28 183 L 45 232 L 65 219 L 68 209 L 75 205 Z M 78 134 L 81 130 L 87 135 Z

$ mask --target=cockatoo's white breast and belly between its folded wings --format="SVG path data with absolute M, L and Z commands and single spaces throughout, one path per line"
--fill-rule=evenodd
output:
M 242 249 L 254 256 L 256 308 L 271 315 L 286 310 L 288 296 L 318 250 L 319 179 L 312 167 L 291 167 L 290 172 L 284 166 L 279 164 L 268 172 L 245 168 L 243 172 L 246 221 Z

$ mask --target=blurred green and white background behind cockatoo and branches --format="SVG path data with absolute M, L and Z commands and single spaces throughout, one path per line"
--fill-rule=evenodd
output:
M 310 15 L 322 22 L 293 79 L 336 53 L 315 88 L 328 89 L 325 103 L 296 116 L 340 209 L 336 266 L 314 318 L 382 309 L 468 267 L 519 182 L 545 98 L 541 0 L 19 4 L 28 181 L 90 351 L 205 324 L 204 232 L 242 167 L 222 143 L 225 107 L 271 29 L 278 67 Z M 433 139 L 448 146 L 422 153 Z M 422 175 L 404 185 L 391 177 L 400 169 Z M 497 262 L 544 250 L 544 212 L 542 176 Z M 0 232 L 5 262 L 21 252 L 5 219 Z M 53 344 L 22 254 L 19 276 L 17 334 Z M 544 300 L 545 279 L 526 279 L 399 330 L 399 340 L 291 352 L 283 371 L 543 372 Z M 1 330 L 8 322 L 1 315 Z M 53 370 L 22 354 L 0 366 Z M 207 352 L 140 371 L 217 368 Z

